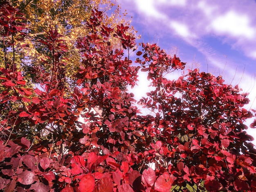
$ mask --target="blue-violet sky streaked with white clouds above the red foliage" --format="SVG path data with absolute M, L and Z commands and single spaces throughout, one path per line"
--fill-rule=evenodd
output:
M 233 86 L 239 84 L 244 92 L 250 92 L 251 103 L 245 108 L 256 109 L 255 0 L 117 2 L 128 18 L 132 16 L 131 25 L 141 35 L 139 42 L 157 43 L 167 53 L 177 53 L 188 68 L 222 75 L 225 83 Z M 148 90 L 145 79 L 141 75 L 141 93 Z M 247 132 L 254 135 L 256 130 Z

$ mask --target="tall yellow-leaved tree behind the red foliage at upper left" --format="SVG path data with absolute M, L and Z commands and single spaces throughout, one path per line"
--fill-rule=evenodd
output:
M 80 55 L 76 49 L 76 39 L 86 36 L 88 33 L 85 27 L 85 21 L 90 18 L 91 11 L 101 9 L 104 14 L 102 22 L 105 25 L 115 28 L 121 23 L 130 25 L 130 20 L 120 16 L 119 5 L 115 0 L 10 0 L 11 5 L 20 7 L 26 18 L 27 36 L 20 42 L 22 51 L 17 51 L 22 65 L 22 71 L 26 78 L 30 77 L 33 83 L 40 83 L 38 76 L 42 71 L 50 72 L 52 66 L 47 66 L 41 59 L 47 59 L 51 55 L 50 51 L 40 41 L 50 27 L 56 29 L 65 40 L 67 50 L 62 57 L 69 58 L 65 61 L 67 72 L 65 77 L 69 78 L 66 86 L 72 86 L 72 77 L 79 69 Z M 108 13 L 114 9 L 112 13 Z M 126 13 L 124 13 L 124 16 Z M 133 27 L 129 28 L 128 33 L 134 33 Z M 112 45 L 118 46 L 115 38 L 110 38 Z M 28 63 L 28 60 L 31 62 Z M 18 62 L 21 63 L 21 62 Z M 22 62 L 23 63 L 23 62 Z

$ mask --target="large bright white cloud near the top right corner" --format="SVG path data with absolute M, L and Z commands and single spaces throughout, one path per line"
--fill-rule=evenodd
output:
M 231 35 L 238 38 L 254 38 L 255 30 L 250 26 L 249 18 L 235 11 L 228 11 L 211 22 L 210 27 L 221 35 Z

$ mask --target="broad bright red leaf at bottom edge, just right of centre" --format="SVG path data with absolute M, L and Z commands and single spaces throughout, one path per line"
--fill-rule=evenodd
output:
M 155 190 L 159 192 L 167 192 L 171 189 L 173 179 L 170 178 L 168 173 L 160 175 L 155 181 Z

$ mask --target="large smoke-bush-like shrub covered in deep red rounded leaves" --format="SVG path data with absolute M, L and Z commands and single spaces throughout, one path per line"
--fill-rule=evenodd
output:
M 16 51 L 12 46 L 25 35 L 21 13 L 4 3 L 0 14 L 3 52 Z M 73 87 L 64 78 L 62 55 L 68 48 L 58 29 L 49 27 L 39 40 L 47 50 L 42 61 L 52 71 L 41 73 L 36 85 L 25 80 L 15 53 L 10 60 L 4 57 L 0 189 L 255 191 L 256 151 L 244 131 L 253 116 L 243 109 L 247 94 L 198 69 L 168 80 L 166 74 L 185 63 L 155 44 L 143 43 L 132 65 L 124 51 L 135 51 L 135 36 L 128 26 L 105 25 L 102 17 L 92 10 L 88 33 L 76 42 L 81 60 Z M 4 42 L 9 37 L 13 42 Z M 139 115 L 127 89 L 136 84 L 140 67 L 153 90 L 138 104 L 154 115 Z M 33 127 L 33 137 L 19 134 Z

